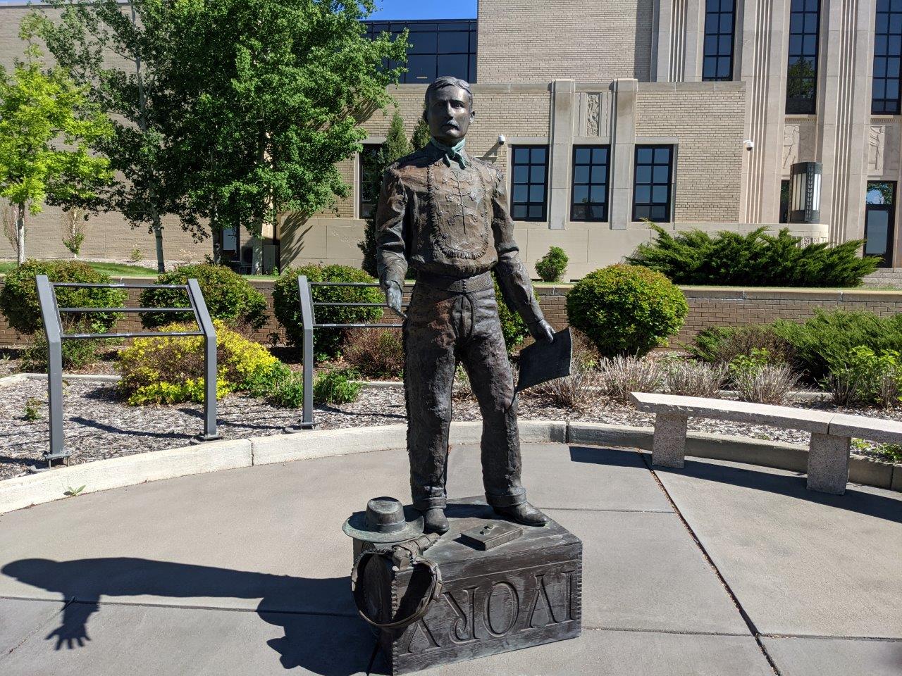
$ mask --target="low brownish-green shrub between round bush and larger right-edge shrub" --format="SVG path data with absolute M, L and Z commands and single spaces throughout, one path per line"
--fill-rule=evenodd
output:
M 689 347 L 693 356 L 713 364 L 729 364 L 753 350 L 767 351 L 773 364 L 795 361 L 793 346 L 769 324 L 709 326 L 695 335 Z

